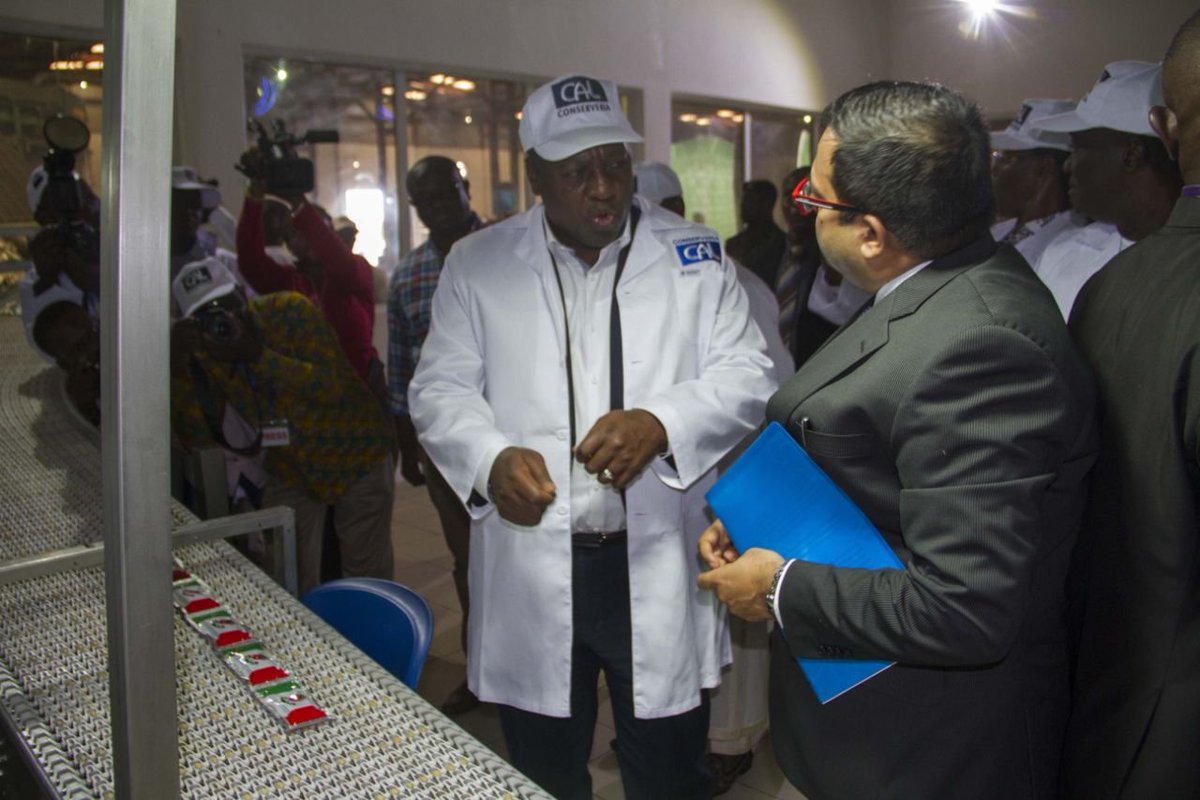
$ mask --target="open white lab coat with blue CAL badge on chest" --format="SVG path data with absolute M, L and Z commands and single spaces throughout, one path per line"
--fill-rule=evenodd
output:
M 698 705 L 728 661 L 724 608 L 696 588 L 700 531 L 688 523 L 702 513 L 706 473 L 762 420 L 774 380 L 732 263 L 688 263 L 703 255 L 697 243 L 720 253 L 716 234 L 634 201 L 642 217 L 618 289 L 625 408 L 659 419 L 674 462 L 656 458 L 626 492 L 634 706 L 650 718 Z M 542 206 L 450 251 L 409 405 L 426 452 L 464 500 L 485 493 L 505 447 L 545 458 L 558 497 L 538 525 L 468 505 L 467 674 L 480 699 L 569 716 L 571 443 Z

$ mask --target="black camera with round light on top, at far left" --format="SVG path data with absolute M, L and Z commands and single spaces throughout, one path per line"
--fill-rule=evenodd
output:
M 98 264 L 100 235 L 85 213 L 94 210 L 84 207 L 84 190 L 74 172 L 76 154 L 88 148 L 91 133 L 76 118 L 56 114 L 42 125 L 42 136 L 49 149 L 42 156 L 46 190 L 41 203 L 56 217 L 46 227 L 58 229 L 88 264 Z

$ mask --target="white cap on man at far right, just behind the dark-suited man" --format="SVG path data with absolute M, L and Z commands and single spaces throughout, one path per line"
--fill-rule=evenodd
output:
M 1114 61 L 1104 67 L 1075 110 L 1046 116 L 1043 131 L 1075 133 L 1111 128 L 1138 136 L 1157 136 L 1150 127 L 1150 108 L 1163 104 L 1163 66 L 1150 61 Z

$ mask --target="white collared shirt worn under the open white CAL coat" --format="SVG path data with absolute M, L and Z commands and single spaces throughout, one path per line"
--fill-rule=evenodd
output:
M 571 379 L 575 395 L 575 435 L 578 444 L 596 420 L 610 411 L 608 332 L 612 279 L 620 249 L 629 242 L 629 219 L 622 235 L 588 266 L 544 223 L 546 245 L 557 265 L 566 303 L 571 339 Z M 620 493 L 601 483 L 583 464 L 571 461 L 571 530 L 623 530 L 625 507 Z

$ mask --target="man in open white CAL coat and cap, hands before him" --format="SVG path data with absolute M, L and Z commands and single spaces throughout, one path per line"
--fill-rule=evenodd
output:
M 715 231 L 634 199 L 614 84 L 539 88 L 520 134 L 542 204 L 450 251 L 409 389 L 473 518 L 468 681 L 517 769 L 592 798 L 602 670 L 625 796 L 708 798 L 728 638 L 686 518 L 772 362 Z

